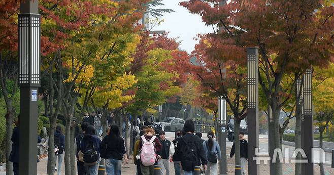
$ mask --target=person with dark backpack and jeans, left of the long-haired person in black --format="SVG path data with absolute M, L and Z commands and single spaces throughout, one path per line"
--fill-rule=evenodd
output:
M 95 135 L 93 125 L 88 125 L 81 141 L 80 151 L 83 153 L 83 161 L 87 175 L 96 175 L 99 164 L 101 140 Z

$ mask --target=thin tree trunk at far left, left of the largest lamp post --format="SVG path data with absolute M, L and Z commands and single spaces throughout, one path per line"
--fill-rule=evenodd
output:
M 13 163 L 9 161 L 9 155 L 12 151 L 12 134 L 13 134 L 13 106 L 12 103 L 7 104 L 6 117 L 6 174 L 13 173 Z

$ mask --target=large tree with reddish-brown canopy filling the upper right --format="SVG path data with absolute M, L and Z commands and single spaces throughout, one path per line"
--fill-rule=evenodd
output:
M 218 3 L 192 0 L 181 5 L 201 15 L 207 25 L 221 28 L 221 33 L 212 34 L 225 46 L 221 52 L 238 54 L 239 47 L 259 47 L 259 64 L 265 68 L 259 69 L 259 83 L 273 110 L 270 129 L 275 135 L 270 137 L 275 148 L 281 148 L 279 113 L 292 97 L 296 81 L 284 89 L 284 74 L 299 78 L 310 66 L 327 65 L 333 55 L 333 7 L 327 1 L 232 1 L 222 7 Z M 277 57 L 271 59 L 272 54 Z M 271 168 L 282 174 L 278 162 Z

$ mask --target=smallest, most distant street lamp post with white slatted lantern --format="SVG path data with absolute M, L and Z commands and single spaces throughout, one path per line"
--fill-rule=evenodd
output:
M 220 152 L 222 153 L 221 160 L 219 161 L 219 174 L 227 174 L 226 165 L 226 100 L 223 96 L 218 97 L 218 142 L 220 145 Z

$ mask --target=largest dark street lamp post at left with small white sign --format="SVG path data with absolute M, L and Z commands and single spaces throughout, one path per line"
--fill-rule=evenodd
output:
M 40 87 L 41 16 L 38 0 L 22 1 L 18 15 L 20 148 L 19 174 L 37 174 L 38 87 Z

